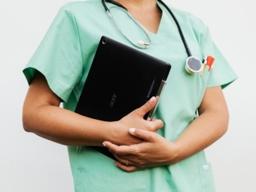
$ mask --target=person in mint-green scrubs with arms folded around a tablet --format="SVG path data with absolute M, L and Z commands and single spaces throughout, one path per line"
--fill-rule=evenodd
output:
M 156 0 L 116 0 L 142 24 L 151 45 L 141 51 L 172 64 L 154 120 L 144 120 L 152 97 L 120 120 L 105 122 L 76 114 L 75 106 L 102 35 L 133 47 L 114 26 L 102 1 L 63 5 L 23 70 L 29 90 L 23 127 L 67 145 L 75 191 L 215 191 L 212 166 L 203 149 L 227 131 L 222 93 L 237 77 L 197 17 L 168 6 L 193 56 L 215 58 L 214 68 L 188 74 L 187 52 L 173 17 Z M 147 36 L 123 8 L 105 5 L 132 41 Z M 63 102 L 63 108 L 60 103 Z M 198 115 L 197 112 L 198 111 Z M 116 161 L 89 146 L 108 148 Z

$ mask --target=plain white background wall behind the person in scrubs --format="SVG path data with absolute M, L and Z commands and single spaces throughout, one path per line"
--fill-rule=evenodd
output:
M 0 0 L 0 191 L 74 191 L 66 147 L 23 130 L 22 70 L 67 0 Z M 169 0 L 205 22 L 239 75 L 224 90 L 226 135 L 206 149 L 218 192 L 256 191 L 256 12 L 251 0 Z M 107 15 L 106 15 L 107 17 Z M 197 191 L 195 191 L 197 192 Z

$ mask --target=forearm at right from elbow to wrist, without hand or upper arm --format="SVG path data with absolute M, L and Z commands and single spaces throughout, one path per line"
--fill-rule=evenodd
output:
M 176 153 L 172 163 L 197 154 L 220 139 L 227 131 L 228 118 L 227 110 L 209 110 L 192 121 L 172 143 Z

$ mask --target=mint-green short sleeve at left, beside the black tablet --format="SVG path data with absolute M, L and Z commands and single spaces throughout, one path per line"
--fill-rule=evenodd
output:
M 59 10 L 23 74 L 30 84 L 38 70 L 53 93 L 66 102 L 81 79 L 82 69 L 78 28 L 67 4 Z

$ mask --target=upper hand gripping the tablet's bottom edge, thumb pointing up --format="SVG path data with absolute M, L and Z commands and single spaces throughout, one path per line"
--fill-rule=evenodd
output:
M 148 111 L 151 111 L 152 108 L 157 103 L 157 99 L 152 97 L 145 105 L 142 107 L 137 108 L 136 110 L 132 111 L 130 114 L 127 114 L 122 119 L 115 122 L 115 129 L 111 132 L 111 142 L 115 145 L 133 145 L 143 142 L 143 139 L 138 137 L 134 137 L 128 133 L 128 130 L 131 127 L 136 127 L 142 130 L 148 130 L 151 132 L 156 132 L 160 128 L 163 127 L 162 120 L 145 120 L 143 117 Z M 108 140 L 110 141 L 110 140 Z

